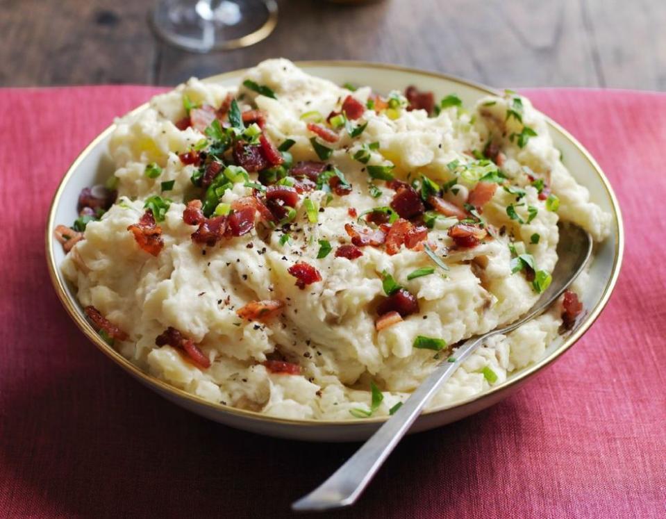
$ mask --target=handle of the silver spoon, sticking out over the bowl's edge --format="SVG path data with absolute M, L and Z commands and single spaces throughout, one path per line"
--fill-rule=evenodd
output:
M 448 361 L 438 365 L 400 409 L 342 467 L 314 491 L 294 502 L 292 509 L 327 510 L 356 502 L 384 460 L 421 414 L 433 393 L 488 335 L 471 338 L 456 349 L 455 360 L 449 357 Z

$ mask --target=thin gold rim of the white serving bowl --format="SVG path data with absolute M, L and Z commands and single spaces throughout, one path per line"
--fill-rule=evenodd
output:
M 460 79 L 455 76 L 449 76 L 447 74 L 439 74 L 438 72 L 428 72 L 410 67 L 401 67 L 399 65 L 388 65 L 384 63 L 372 63 L 372 62 L 351 61 L 351 60 L 299 61 L 296 62 L 296 65 L 304 69 L 313 68 L 313 67 L 363 67 L 363 68 L 373 68 L 373 69 L 383 69 L 383 70 L 394 70 L 398 72 L 408 72 L 410 74 L 415 74 L 417 76 L 431 76 L 436 79 L 443 79 L 446 81 L 460 83 L 468 87 L 475 88 L 481 94 L 499 93 L 497 90 L 494 90 L 493 88 L 481 85 L 480 83 L 475 83 L 474 81 L 467 81 L 466 79 Z M 231 72 L 225 72 L 224 74 L 217 74 L 215 76 L 210 76 L 206 79 L 203 79 L 202 81 L 216 82 L 231 77 L 239 77 L 242 76 L 242 74 L 244 74 L 246 70 L 247 69 L 233 70 Z M 141 106 L 135 108 L 134 110 L 131 110 L 131 112 L 129 112 L 128 115 L 138 113 L 141 110 L 147 108 L 147 106 L 148 103 L 144 103 Z M 551 352 L 547 356 L 544 356 L 543 359 L 540 359 L 540 361 L 534 363 L 533 365 L 524 368 L 515 376 L 510 377 L 510 379 L 507 379 L 506 381 L 504 381 L 501 384 L 498 384 L 497 386 L 493 386 L 492 388 L 490 388 L 487 391 L 484 391 L 483 393 L 478 393 L 478 395 L 474 395 L 472 397 L 461 400 L 460 402 L 456 402 L 454 404 L 441 406 L 435 409 L 425 411 L 424 413 L 422 413 L 423 415 L 433 415 L 435 413 L 441 413 L 442 411 L 447 411 L 457 407 L 463 407 L 468 404 L 472 404 L 473 402 L 481 403 L 481 401 L 483 400 L 497 397 L 501 393 L 510 389 L 512 386 L 521 383 L 525 379 L 531 377 L 536 372 L 542 370 L 542 368 L 545 368 L 547 365 L 551 364 L 553 361 L 558 359 L 560 355 L 566 352 L 570 347 L 572 347 L 576 343 L 576 341 L 579 338 L 581 338 L 581 336 L 583 336 L 583 333 L 585 333 L 585 331 L 588 331 L 588 329 L 592 326 L 594 321 L 597 320 L 599 314 L 608 303 L 608 299 L 610 299 L 610 295 L 613 292 L 613 288 L 615 288 L 615 283 L 617 282 L 617 278 L 619 276 L 620 266 L 622 265 L 622 258 L 624 256 L 624 226 L 622 224 L 622 213 L 619 208 L 617 197 L 615 197 L 615 192 L 613 192 L 613 188 L 611 188 L 610 183 L 606 178 L 606 175 L 603 174 L 603 172 L 601 171 L 601 167 L 599 167 L 597 161 L 594 160 L 594 158 L 583 147 L 583 145 L 581 145 L 581 143 L 578 142 L 573 137 L 573 135 L 571 135 L 568 131 L 563 129 L 562 126 L 551 120 L 550 117 L 546 117 L 546 120 L 551 130 L 555 130 L 561 133 L 567 140 L 569 140 L 569 142 L 572 142 L 572 144 L 578 149 L 578 151 L 581 152 L 581 154 L 585 157 L 585 160 L 587 160 L 588 163 L 590 164 L 590 167 L 592 167 L 594 172 L 596 172 L 597 175 L 599 176 L 599 179 L 601 179 L 601 182 L 603 183 L 603 186 L 606 189 L 607 195 L 612 201 L 613 219 L 615 220 L 615 254 L 613 258 L 613 269 L 611 270 L 610 279 L 606 284 L 606 288 L 604 288 L 603 294 L 601 295 L 601 299 L 599 299 L 597 305 L 594 306 L 594 308 L 590 309 L 588 314 L 585 316 L 585 319 L 581 322 L 581 324 L 579 324 L 578 328 L 574 330 L 574 332 L 566 338 L 566 340 L 562 343 L 562 345 L 554 349 L 553 352 Z M 107 343 L 105 343 L 101 339 L 101 337 L 97 334 L 96 331 L 94 331 L 92 326 L 90 326 L 88 321 L 83 316 L 83 312 L 81 311 L 81 308 L 78 306 L 78 303 L 72 300 L 70 297 L 68 297 L 63 281 L 61 281 L 60 277 L 58 277 L 58 265 L 56 265 L 56 260 L 53 256 L 52 229 L 54 224 L 56 224 L 55 222 L 56 208 L 60 204 L 60 197 L 62 196 L 63 191 L 65 190 L 67 182 L 69 181 L 70 178 L 72 178 L 72 176 L 74 176 L 76 170 L 78 169 L 78 166 L 81 164 L 83 159 L 86 156 L 88 156 L 88 154 L 90 154 L 90 151 L 94 147 L 97 147 L 97 145 L 99 145 L 99 143 L 102 140 L 106 139 L 108 135 L 110 135 L 110 133 L 114 131 L 115 127 L 116 127 L 115 124 L 111 124 L 110 126 L 108 126 L 108 128 L 102 131 L 102 133 L 97 135 L 97 137 L 94 138 L 94 140 L 92 140 L 92 142 L 90 142 L 90 144 L 87 147 L 85 147 L 83 151 L 81 151 L 81 154 L 78 155 L 78 157 L 74 160 L 72 165 L 69 166 L 67 173 L 60 181 L 58 190 L 56 190 L 56 194 L 53 196 L 53 201 L 51 202 L 51 208 L 49 209 L 49 219 L 47 222 L 46 252 L 47 252 L 47 263 L 49 267 L 49 275 L 51 277 L 51 282 L 53 283 L 53 287 L 56 289 L 56 293 L 58 294 L 60 302 L 63 304 L 63 306 L 65 306 L 65 310 L 67 311 L 67 313 L 69 313 L 69 316 L 74 320 L 78 328 L 81 329 L 81 331 L 83 331 L 85 336 L 88 337 L 88 339 L 90 339 L 92 343 L 94 343 L 94 345 L 96 345 L 97 348 L 103 354 L 105 354 L 110 359 L 115 361 L 115 363 L 120 365 L 121 368 L 123 368 L 130 374 L 133 374 L 138 379 L 144 381 L 149 386 L 152 386 L 153 388 L 156 388 L 158 390 L 165 391 L 166 393 L 170 393 L 171 395 L 173 395 L 174 397 L 178 397 L 179 399 L 188 400 L 192 402 L 192 404 L 197 404 L 197 406 L 203 406 L 215 411 L 221 411 L 222 413 L 228 413 L 242 418 L 250 418 L 252 420 L 259 420 L 261 422 L 274 422 L 274 423 L 281 423 L 284 425 L 298 425 L 298 426 L 310 426 L 310 427 L 324 426 L 324 425 L 353 427 L 363 424 L 367 425 L 372 423 L 381 423 L 387 420 L 388 419 L 387 417 L 364 418 L 363 420 L 361 419 L 315 420 L 311 418 L 295 420 L 295 419 L 277 418 L 274 416 L 265 415 L 263 413 L 258 413 L 256 411 L 246 411 L 244 409 L 238 409 L 224 404 L 215 404 L 201 397 L 197 397 L 196 395 L 192 395 L 192 393 L 188 393 L 185 390 L 176 388 L 176 386 L 167 384 L 167 382 L 163 380 L 151 376 L 150 374 L 138 368 L 138 366 L 131 363 L 131 361 L 128 361 L 128 359 L 125 359 L 124 356 L 122 356 L 119 352 L 113 349 L 113 347 L 110 347 Z

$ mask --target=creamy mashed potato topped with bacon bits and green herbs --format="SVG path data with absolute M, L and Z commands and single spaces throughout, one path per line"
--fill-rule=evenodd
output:
M 81 304 L 127 334 L 115 347 L 194 395 L 282 418 L 388 415 L 456 343 L 534 304 L 557 261 L 559 220 L 576 222 L 595 240 L 608 233 L 609 215 L 560 162 L 542 115 L 513 92 L 465 108 L 451 96 L 428 115 L 408 110 L 398 92 L 352 92 L 287 60 L 260 63 L 244 79 L 238 90 L 191 79 L 117 122 L 109 147 L 117 199 L 89 219 L 85 239 L 63 263 Z M 340 115 L 343 103 L 348 117 Z M 213 124 L 210 114 L 221 106 Z M 235 107 L 262 115 L 238 124 Z M 266 164 L 271 149 L 260 134 L 275 146 L 286 142 L 283 148 L 292 141 L 275 160 L 285 163 Z M 228 149 L 234 141 L 241 158 Z M 251 171 L 247 147 L 259 150 L 260 174 Z M 211 160 L 220 163 L 213 182 L 224 181 L 217 192 L 205 180 L 201 187 Z M 308 183 L 295 173 L 304 161 L 327 169 Z M 269 204 L 262 183 L 298 188 L 293 208 L 285 199 Z M 394 209 L 399 190 L 416 215 L 402 218 L 405 210 Z M 230 214 L 253 193 L 272 219 L 257 211 L 245 233 L 227 230 L 208 245 L 192 238 L 216 216 L 231 229 Z M 183 220 L 193 199 L 208 201 L 208 220 L 196 211 L 193 224 Z M 142 228 L 139 237 L 128 231 L 147 208 L 156 221 L 144 227 L 161 231 L 153 237 L 162 244 L 156 255 L 141 246 Z M 416 238 L 399 241 L 395 254 L 388 242 L 347 247 L 349 257 L 339 252 L 352 242 L 349 229 L 394 240 L 398 217 Z M 299 281 L 297 263 L 314 267 L 319 280 Z M 416 308 L 396 302 L 397 286 Z M 242 309 L 252 302 L 275 307 L 248 317 Z M 559 314 L 555 308 L 488 340 L 430 406 L 480 393 L 540 359 Z M 178 340 L 158 345 L 169 327 Z

